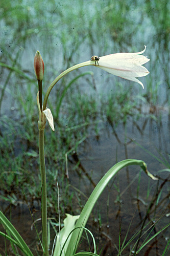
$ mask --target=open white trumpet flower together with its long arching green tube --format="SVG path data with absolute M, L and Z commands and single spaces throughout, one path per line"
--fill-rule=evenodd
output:
M 91 60 L 79 63 L 65 70 L 50 84 L 50 87 L 48 88 L 44 97 L 43 110 L 46 109 L 48 96 L 50 95 L 55 84 L 67 73 L 85 66 L 92 65 L 115 76 L 138 82 L 141 84 L 142 88 L 144 88 L 143 83 L 136 79 L 136 77 L 147 76 L 150 73 L 145 67 L 142 66 L 144 63 L 147 63 L 150 60 L 146 56 L 141 55 L 143 52 L 145 52 L 145 49 L 146 47 L 144 47 L 143 51 L 136 53 L 114 53 L 103 57 L 92 56 L 93 58 L 91 58 Z M 96 61 L 98 61 L 98 65 L 96 65 Z

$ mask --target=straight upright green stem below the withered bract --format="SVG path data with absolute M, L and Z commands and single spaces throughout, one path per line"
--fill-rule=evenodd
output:
M 43 247 L 45 250 L 44 255 L 48 256 L 44 128 L 39 129 L 39 160 L 40 160 L 41 189 L 42 189 L 41 190 L 42 241 L 43 241 Z

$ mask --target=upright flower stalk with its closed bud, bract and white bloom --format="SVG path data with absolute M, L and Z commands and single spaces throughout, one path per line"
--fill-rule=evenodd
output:
M 95 66 L 101 68 L 113 75 L 120 76 L 127 80 L 135 81 L 141 84 L 136 77 L 142 77 L 149 74 L 149 71 L 142 65 L 149 61 L 149 59 L 141 55 L 145 51 L 137 53 L 116 53 L 103 57 L 96 55 L 92 56 L 89 61 L 85 61 L 75 65 L 64 72 L 62 72 L 50 84 L 44 97 L 42 106 L 42 79 L 44 75 L 44 62 L 39 51 L 36 52 L 34 58 L 34 70 L 38 80 L 38 94 L 37 104 L 39 110 L 39 160 L 40 160 L 40 173 L 41 173 L 41 216 L 42 216 L 42 239 L 43 239 L 43 255 L 48 256 L 48 243 L 47 243 L 47 197 L 46 197 L 46 174 L 45 174 L 45 158 L 44 158 L 44 129 L 46 117 L 54 131 L 53 116 L 49 109 L 46 110 L 48 97 L 55 86 L 55 84 L 67 73 L 85 66 Z M 45 117 L 46 116 L 46 117 Z

